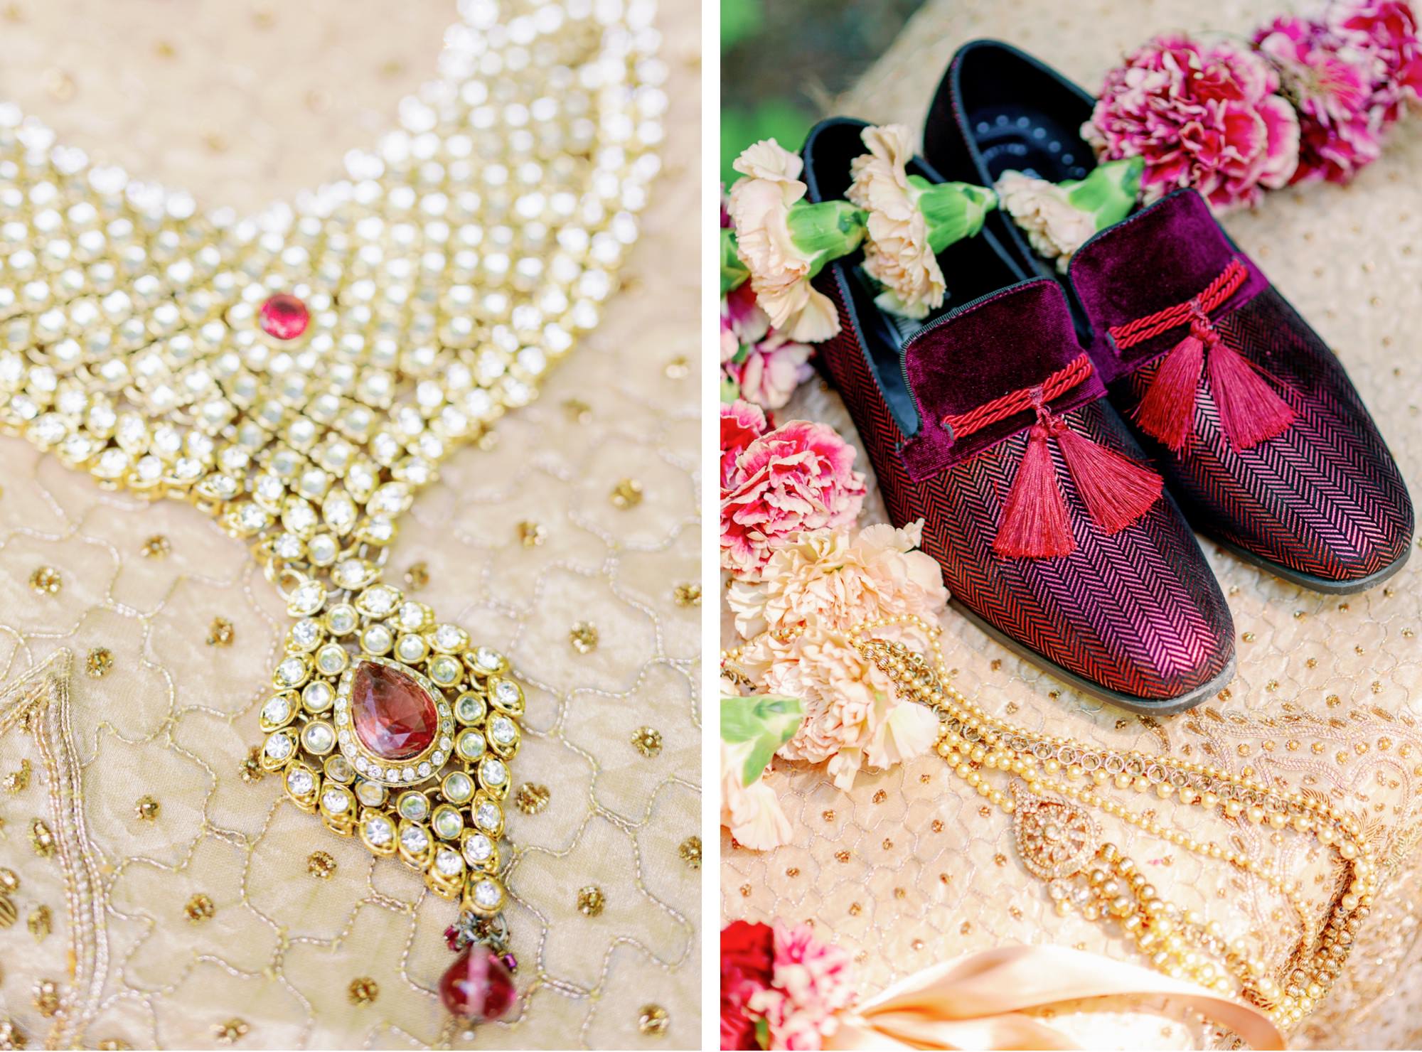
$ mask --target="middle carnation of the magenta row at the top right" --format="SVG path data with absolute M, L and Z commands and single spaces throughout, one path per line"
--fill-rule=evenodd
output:
M 1351 47 L 1327 26 L 1276 18 L 1254 45 L 1278 70 L 1281 91 L 1298 114 L 1294 182 L 1345 183 L 1382 154 L 1381 112 L 1372 105 L 1375 55 Z

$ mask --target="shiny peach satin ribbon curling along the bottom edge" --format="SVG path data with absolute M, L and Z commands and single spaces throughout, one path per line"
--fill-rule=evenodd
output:
M 1048 945 L 998 947 L 914 972 L 840 1015 L 825 1048 L 1079 1048 L 1024 1012 L 1096 998 L 1139 1001 L 1143 1009 L 1190 1008 L 1256 1049 L 1284 1048 L 1278 1028 L 1257 1008 L 1135 964 Z

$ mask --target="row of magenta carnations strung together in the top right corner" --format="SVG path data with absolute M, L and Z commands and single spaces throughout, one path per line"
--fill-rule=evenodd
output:
M 1325 0 L 1249 43 L 1155 37 L 1106 74 L 1081 134 L 1105 161 L 1145 161 L 1145 203 L 1193 186 L 1227 212 L 1291 183 L 1348 182 L 1419 98 L 1412 6 Z

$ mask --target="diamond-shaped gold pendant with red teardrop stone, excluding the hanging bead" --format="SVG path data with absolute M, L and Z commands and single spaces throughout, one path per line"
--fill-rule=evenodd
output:
M 374 577 L 351 574 L 364 587 L 301 579 L 287 593 L 297 621 L 259 718 L 262 765 L 331 832 L 492 918 L 505 903 L 499 840 L 523 688 L 502 654 L 364 566 Z

